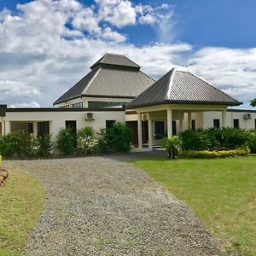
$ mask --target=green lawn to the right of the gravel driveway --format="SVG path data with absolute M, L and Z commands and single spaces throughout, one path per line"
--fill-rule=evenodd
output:
M 135 165 L 191 207 L 224 254 L 256 252 L 256 157 L 137 160 Z

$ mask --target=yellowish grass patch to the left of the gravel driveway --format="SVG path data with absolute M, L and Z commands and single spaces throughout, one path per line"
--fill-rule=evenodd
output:
M 26 172 L 13 170 L 0 187 L 0 255 L 20 255 L 44 206 L 44 187 Z

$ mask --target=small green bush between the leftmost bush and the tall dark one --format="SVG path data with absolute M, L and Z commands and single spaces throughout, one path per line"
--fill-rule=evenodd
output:
M 51 141 L 51 135 L 35 137 L 33 140 L 33 150 L 37 156 L 49 156 L 53 150 L 54 144 Z

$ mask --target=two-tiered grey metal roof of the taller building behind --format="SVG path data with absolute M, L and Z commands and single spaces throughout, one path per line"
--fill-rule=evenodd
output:
M 108 58 L 107 58 L 107 57 Z M 101 65 L 102 59 L 105 58 L 104 65 Z M 102 96 L 102 97 L 124 97 L 135 98 L 144 90 L 154 84 L 154 79 L 151 79 L 145 73 L 140 71 L 140 67 L 131 61 L 131 65 L 127 66 L 130 60 L 123 55 L 104 55 L 101 60 L 97 61 L 88 73 L 77 84 L 67 90 L 54 104 L 67 102 L 74 98 L 82 96 Z M 107 64 L 108 61 L 114 59 L 119 60 L 113 62 L 115 64 Z M 128 60 L 128 61 L 127 61 Z M 107 62 L 106 62 L 107 61 Z M 118 67 L 119 66 L 119 67 Z

